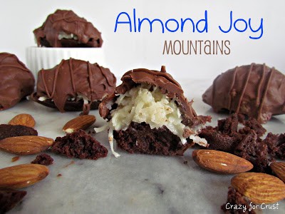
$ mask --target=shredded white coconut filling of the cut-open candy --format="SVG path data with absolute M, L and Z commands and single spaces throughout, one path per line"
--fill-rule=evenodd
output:
M 142 84 L 130 89 L 125 94 L 120 94 L 115 101 L 118 107 L 110 111 L 112 118 L 108 122 L 108 126 L 104 127 L 104 130 L 109 128 L 109 143 L 115 157 L 118 156 L 118 153 L 113 150 L 113 130 L 126 130 L 132 121 L 136 123 L 145 122 L 150 125 L 150 128 L 166 126 L 180 138 L 183 144 L 187 143 L 187 138 L 183 137 L 183 133 L 185 133 L 185 130 L 191 129 L 182 123 L 182 116 L 175 99 L 168 98 L 158 88 L 152 88 L 152 91 L 150 91 L 150 87 L 152 86 Z M 95 129 L 96 132 L 102 130 Z M 195 136 L 195 134 L 189 138 L 194 143 L 207 146 L 207 141 Z

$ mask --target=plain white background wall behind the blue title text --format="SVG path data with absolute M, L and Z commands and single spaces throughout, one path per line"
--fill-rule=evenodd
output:
M 163 64 L 167 71 L 176 78 L 214 78 L 219 73 L 234 66 L 244 64 L 266 63 L 285 71 L 284 61 L 284 3 L 283 1 L 211 1 L 211 0 L 177 0 L 177 1 L 96 1 L 96 0 L 26 0 L 1 1 L 0 7 L 0 51 L 7 51 L 19 56 L 26 62 L 25 49 L 35 46 L 33 29 L 43 24 L 46 16 L 56 9 L 72 9 L 78 16 L 86 18 L 102 32 L 103 49 L 108 67 L 120 76 L 132 68 L 150 68 L 159 70 Z M 192 18 L 199 20 L 208 11 L 209 32 L 166 32 L 156 26 L 150 33 L 147 28 L 140 33 L 128 31 L 126 26 L 119 26 L 115 33 L 115 19 L 125 11 L 143 19 L 177 19 Z M 224 28 L 229 23 L 229 11 L 234 19 L 252 19 L 255 27 L 264 19 L 264 35 L 261 39 L 249 39 L 254 34 L 249 31 L 237 33 L 231 31 L 222 34 L 218 26 Z M 179 55 L 163 56 L 165 40 L 229 40 L 229 55 Z

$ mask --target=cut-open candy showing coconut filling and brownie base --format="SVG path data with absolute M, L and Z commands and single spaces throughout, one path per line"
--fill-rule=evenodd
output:
M 99 107 L 100 116 L 109 120 L 109 142 L 115 156 L 113 138 L 129 153 L 182 156 L 192 143 L 207 146 L 194 128 L 210 117 L 197 116 L 192 101 L 187 101 L 164 66 L 161 71 L 133 69 L 121 80 L 115 93 Z

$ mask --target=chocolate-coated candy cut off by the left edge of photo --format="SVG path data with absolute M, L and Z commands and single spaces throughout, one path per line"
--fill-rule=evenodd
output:
M 14 54 L 0 53 L 0 111 L 33 93 L 35 78 Z

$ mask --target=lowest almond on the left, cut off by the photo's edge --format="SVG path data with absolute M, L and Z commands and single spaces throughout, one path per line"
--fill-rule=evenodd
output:
M 40 164 L 21 164 L 0 169 L 0 188 L 24 188 L 46 178 L 48 168 Z

